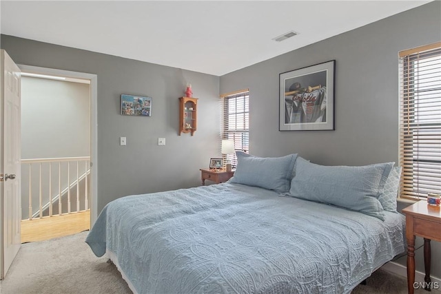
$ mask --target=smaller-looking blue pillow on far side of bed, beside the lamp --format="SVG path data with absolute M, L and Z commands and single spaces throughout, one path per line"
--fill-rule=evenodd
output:
M 289 191 L 297 154 L 263 158 L 238 151 L 236 156 L 236 171 L 229 182 L 261 187 L 277 193 Z

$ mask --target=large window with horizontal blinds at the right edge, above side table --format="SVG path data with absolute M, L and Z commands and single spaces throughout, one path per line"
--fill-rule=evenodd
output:
M 441 193 L 441 42 L 400 52 L 400 193 Z

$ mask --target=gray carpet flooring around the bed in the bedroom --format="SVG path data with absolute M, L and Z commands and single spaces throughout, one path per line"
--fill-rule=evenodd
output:
M 23 244 L 5 280 L 0 282 L 0 293 L 132 293 L 116 266 L 92 253 L 84 242 L 87 234 L 85 231 Z M 407 293 L 407 280 L 379 269 L 367 279 L 367 285 L 358 285 L 352 293 Z M 416 293 L 429 292 L 417 290 Z

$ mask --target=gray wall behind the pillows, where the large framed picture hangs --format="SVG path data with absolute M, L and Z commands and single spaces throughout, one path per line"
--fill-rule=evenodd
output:
M 322 165 L 398 163 L 398 52 L 440 41 L 440 12 L 441 2 L 433 1 L 221 76 L 220 93 L 249 88 L 250 152 L 298 153 Z M 278 75 L 333 59 L 336 130 L 278 132 Z M 424 271 L 421 254 L 419 249 L 417 269 Z M 437 242 L 435 260 L 441 260 Z M 432 269 L 441 277 L 439 262 Z

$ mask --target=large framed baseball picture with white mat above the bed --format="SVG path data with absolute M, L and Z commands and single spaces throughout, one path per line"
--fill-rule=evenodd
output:
M 334 130 L 336 61 L 279 74 L 279 131 Z

